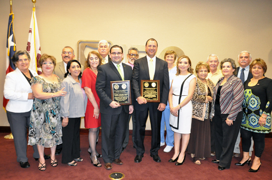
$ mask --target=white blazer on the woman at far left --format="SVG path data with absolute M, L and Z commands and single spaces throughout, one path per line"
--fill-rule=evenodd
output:
M 38 75 L 37 72 L 29 70 L 33 76 Z M 31 110 L 33 100 L 28 99 L 28 93 L 32 93 L 32 89 L 23 73 L 16 68 L 15 71 L 9 72 L 5 77 L 4 97 L 8 99 L 6 110 L 10 112 L 28 112 Z

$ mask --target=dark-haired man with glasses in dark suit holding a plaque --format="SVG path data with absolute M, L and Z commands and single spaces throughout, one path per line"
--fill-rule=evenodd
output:
M 111 61 L 98 67 L 95 89 L 100 98 L 102 155 L 105 168 L 111 169 L 112 163 L 123 164 L 120 160 L 123 143 L 126 137 L 129 113 L 133 113 L 133 106 L 112 101 L 111 81 L 132 79 L 132 68 L 124 63 L 123 48 L 114 45 L 110 48 Z M 132 103 L 134 95 L 132 94 Z

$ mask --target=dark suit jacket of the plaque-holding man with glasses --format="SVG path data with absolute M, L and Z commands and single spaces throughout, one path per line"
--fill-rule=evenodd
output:
M 132 80 L 132 68 L 124 63 L 121 63 L 124 70 L 124 80 Z M 117 115 L 124 107 L 125 112 L 129 113 L 129 105 L 123 105 L 118 108 L 111 108 L 109 104 L 111 100 L 110 81 L 122 81 L 122 77 L 112 61 L 98 67 L 98 73 L 95 83 L 95 90 L 100 99 L 100 112 L 104 114 Z M 132 83 L 131 83 L 132 84 Z M 132 86 L 132 85 L 131 85 Z M 135 102 L 134 94 L 131 88 L 132 105 Z

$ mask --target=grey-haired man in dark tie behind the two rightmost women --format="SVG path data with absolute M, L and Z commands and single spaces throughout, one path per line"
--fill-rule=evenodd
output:
M 247 79 L 251 79 L 253 77 L 252 73 L 249 71 L 249 64 L 251 62 L 251 54 L 248 51 L 242 51 L 239 53 L 238 55 L 238 63 L 239 63 L 239 67 L 237 68 L 236 72 L 236 76 L 239 77 L 243 83 L 247 80 Z M 233 155 L 232 157 L 239 157 L 240 156 L 240 144 L 241 138 L 240 138 L 240 131 L 234 146 L 234 150 L 233 150 Z M 252 151 L 253 151 L 253 139 L 251 138 L 251 146 L 249 149 L 249 156 L 251 157 L 252 155 Z

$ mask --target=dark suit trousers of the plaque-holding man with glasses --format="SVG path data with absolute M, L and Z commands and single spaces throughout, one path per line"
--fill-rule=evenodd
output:
M 118 115 L 101 113 L 101 147 L 104 163 L 119 159 L 126 137 L 129 113 L 124 108 Z

